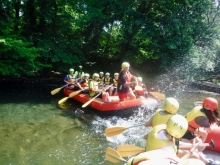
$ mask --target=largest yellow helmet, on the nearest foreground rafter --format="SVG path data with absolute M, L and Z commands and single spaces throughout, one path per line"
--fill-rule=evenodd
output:
M 188 122 L 182 115 L 173 115 L 166 124 L 167 132 L 174 138 L 181 138 L 188 129 Z

